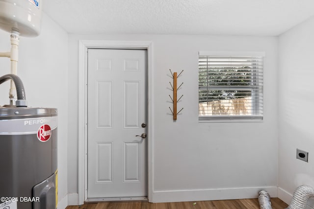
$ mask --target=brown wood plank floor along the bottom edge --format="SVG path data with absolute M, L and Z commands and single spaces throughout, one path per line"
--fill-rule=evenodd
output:
M 271 198 L 271 205 L 273 209 L 286 209 L 288 207 L 286 203 L 278 198 Z M 260 209 L 260 205 L 258 199 L 242 199 L 179 203 L 96 203 L 68 206 L 66 209 Z

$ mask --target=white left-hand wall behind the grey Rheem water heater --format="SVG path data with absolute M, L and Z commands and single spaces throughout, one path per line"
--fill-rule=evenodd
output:
M 0 51 L 9 50 L 10 34 L 0 30 Z M 58 208 L 64 208 L 68 193 L 68 34 L 44 14 L 41 34 L 21 37 L 19 50 L 18 75 L 28 105 L 58 109 Z M 9 66 L 8 58 L 0 58 L 1 75 L 10 72 Z M 8 103 L 8 88 L 0 85 L 0 105 Z

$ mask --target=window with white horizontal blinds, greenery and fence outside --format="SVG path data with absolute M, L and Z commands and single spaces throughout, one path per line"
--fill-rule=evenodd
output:
M 199 54 L 199 120 L 261 120 L 263 53 L 223 54 Z

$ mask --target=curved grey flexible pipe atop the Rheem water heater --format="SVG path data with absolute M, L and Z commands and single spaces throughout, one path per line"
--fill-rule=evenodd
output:
M 25 95 L 25 89 L 24 85 L 22 83 L 22 80 L 19 78 L 19 76 L 14 74 L 6 74 L 0 77 L 0 84 L 7 80 L 13 80 L 14 85 L 16 87 L 18 100 L 16 101 L 17 107 L 27 107 L 26 102 L 26 95 Z

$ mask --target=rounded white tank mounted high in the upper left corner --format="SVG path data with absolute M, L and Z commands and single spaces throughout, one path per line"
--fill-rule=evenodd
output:
M 21 36 L 38 36 L 42 0 L 0 0 L 0 28 L 18 31 Z

